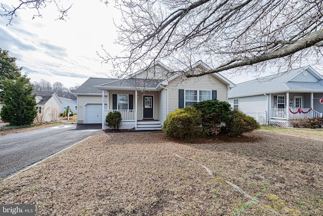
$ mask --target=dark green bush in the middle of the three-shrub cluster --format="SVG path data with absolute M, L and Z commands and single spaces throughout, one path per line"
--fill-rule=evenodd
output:
M 231 105 L 224 101 L 206 100 L 194 104 L 202 113 L 202 126 L 206 135 L 218 135 L 230 122 Z

